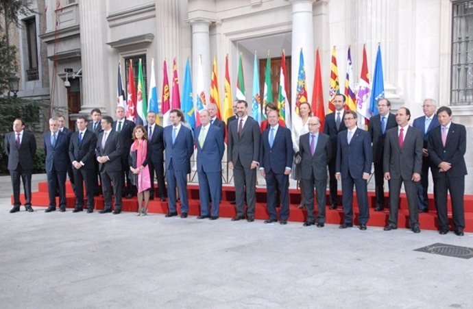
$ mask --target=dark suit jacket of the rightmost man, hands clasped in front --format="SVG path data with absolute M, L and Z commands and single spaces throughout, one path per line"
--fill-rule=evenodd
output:
M 446 175 L 449 177 L 459 177 L 466 175 L 467 171 L 464 158 L 466 152 L 465 126 L 450 123 L 445 147 L 441 141 L 441 126 L 439 125 L 433 128 L 428 136 L 428 152 L 430 154 L 430 162 L 435 166 L 432 169 L 433 177 L 445 177 Z M 452 168 L 446 173 L 440 173 L 437 166 L 439 166 L 441 162 L 452 164 Z

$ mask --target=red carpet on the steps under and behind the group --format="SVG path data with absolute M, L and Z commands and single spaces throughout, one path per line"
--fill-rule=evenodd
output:
M 197 184 L 189 184 L 189 214 L 192 216 L 199 215 L 199 186 Z M 295 189 L 289 190 L 291 210 L 289 221 L 304 222 L 306 218 L 306 211 L 298 209 L 300 203 L 300 192 Z M 339 192 L 341 195 L 341 192 Z M 368 193 L 370 205 L 374 205 L 374 192 Z M 74 208 L 75 196 L 73 190 L 67 182 L 66 186 L 67 196 L 67 207 Z M 234 200 L 234 188 L 232 186 L 223 187 L 223 196 L 220 204 L 220 217 L 230 218 L 236 214 L 235 206 L 230 204 L 230 201 Z M 435 212 L 435 206 L 433 203 L 433 195 L 429 195 L 430 204 L 429 212 L 419 214 L 420 227 L 424 230 L 437 230 L 437 214 Z M 387 199 L 387 194 L 386 194 Z M 328 197 L 327 197 L 328 200 Z M 22 197 L 23 201 L 23 197 Z M 32 197 L 33 206 L 48 206 L 49 199 L 47 193 L 47 183 L 40 182 L 38 184 L 38 192 L 33 193 Z M 451 208 L 449 207 L 449 217 L 451 218 Z M 100 210 L 104 208 L 104 199 L 102 197 L 95 197 L 95 209 Z M 317 206 L 315 206 L 317 209 Z M 138 204 L 136 197 L 133 199 L 123 199 L 123 211 L 136 212 L 138 210 Z M 167 201 L 162 202 L 159 199 L 149 201 L 149 212 L 154 213 L 167 213 Z M 357 223 L 357 217 L 359 214 L 356 205 L 356 192 L 354 193 L 354 218 L 355 224 Z M 266 211 L 266 189 L 256 189 L 256 219 L 265 220 L 268 218 Z M 375 212 L 373 208 L 369 211 L 369 226 L 385 226 L 387 224 L 388 210 L 384 212 Z M 338 210 L 326 210 L 326 223 L 341 224 L 343 223 L 343 210 L 339 207 Z M 399 227 L 408 227 L 409 223 L 409 210 L 407 207 L 407 199 L 405 194 L 401 195 L 400 210 L 399 210 Z M 473 232 L 473 195 L 465 195 L 465 232 Z

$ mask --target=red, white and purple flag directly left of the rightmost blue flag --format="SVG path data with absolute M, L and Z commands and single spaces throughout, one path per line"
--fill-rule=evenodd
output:
M 366 49 L 363 45 L 363 63 L 361 64 L 361 75 L 356 97 L 356 112 L 358 112 L 358 127 L 365 128 L 366 121 L 371 118 L 369 110 L 369 73 L 366 58 Z

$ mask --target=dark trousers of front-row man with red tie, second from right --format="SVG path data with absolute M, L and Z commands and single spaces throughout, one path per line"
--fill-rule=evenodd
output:
M 404 183 L 404 190 L 407 195 L 409 205 L 409 227 L 419 226 L 419 210 L 417 210 L 417 187 L 410 179 L 391 178 L 389 180 L 389 224 L 398 226 L 399 195 L 401 186 Z

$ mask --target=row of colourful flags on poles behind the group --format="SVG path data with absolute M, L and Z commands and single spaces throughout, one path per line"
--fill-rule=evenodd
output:
M 126 111 L 126 118 L 135 123 L 147 125 L 147 112 L 162 113 L 162 125 L 169 125 L 169 111 L 174 108 L 179 108 L 184 113 L 184 119 L 191 127 L 200 125 L 199 111 L 207 106 L 207 102 L 214 103 L 217 106 L 217 117 L 226 121 L 232 116 L 232 90 L 230 83 L 230 70 L 228 66 L 228 55 L 225 63 L 225 81 L 223 84 L 224 99 L 221 103 L 219 95 L 219 77 L 217 71 L 217 58 L 213 60 L 212 73 L 210 79 L 210 96 L 206 97 L 206 90 L 204 89 L 202 59 L 199 59 L 197 64 L 197 82 L 195 92 L 192 89 L 191 69 L 189 65 L 189 58 L 186 60 L 186 69 L 184 71 L 184 87 L 182 88 L 182 101 L 180 99 L 178 69 L 176 60 L 173 60 L 173 77 L 171 84 L 171 92 L 169 88 L 169 79 L 167 76 L 167 61 L 163 62 L 163 79 L 162 79 L 162 94 L 161 104 L 158 104 L 158 94 L 156 88 L 156 77 L 154 75 L 154 59 L 151 60 L 151 76 L 149 81 L 149 91 L 146 92 L 146 85 L 143 78 L 143 64 L 141 59 L 138 62 L 138 83 L 135 88 L 134 73 L 132 60 L 128 65 L 128 83 L 127 95 L 123 90 L 121 82 L 121 68 L 118 68 L 118 87 L 117 87 L 117 105 L 123 106 Z M 298 116 L 300 103 L 308 101 L 307 87 L 306 87 L 306 73 L 304 67 L 304 54 L 300 50 L 300 60 L 298 69 L 298 82 L 295 94 L 295 103 L 291 106 L 289 103 L 287 71 L 286 71 L 286 56 L 284 50 L 282 51 L 281 66 L 279 70 L 278 82 L 278 97 L 273 97 L 271 84 L 271 58 L 269 52 L 267 55 L 265 67 L 265 82 L 263 88 L 263 101 L 261 101 L 260 84 L 259 84 L 259 70 L 258 57 L 254 54 L 253 66 L 253 91 L 252 102 L 250 107 L 250 116 L 252 116 L 258 123 L 266 119 L 263 108 L 267 103 L 274 103 L 280 110 L 280 120 L 284 121 L 287 127 L 291 127 L 291 117 Z M 369 73 L 367 66 L 366 49 L 363 46 L 363 60 L 361 65 L 361 75 L 359 79 L 358 88 L 354 86 L 354 75 L 352 66 L 351 50 L 348 47 L 347 66 L 345 77 L 345 91 L 346 110 L 354 110 L 359 114 L 359 127 L 364 128 L 367 121 L 372 115 L 378 114 L 378 101 L 384 97 L 383 84 L 383 65 L 381 60 L 380 46 L 378 46 L 378 53 L 376 55 L 376 64 L 374 69 L 374 80 L 372 88 L 369 85 Z M 311 100 L 311 109 L 315 116 L 318 116 L 322 121 L 322 128 L 324 127 L 324 119 L 326 112 L 334 112 L 335 105 L 332 103 L 335 95 L 340 94 L 340 83 L 337 67 L 336 49 L 333 47 L 331 61 L 330 61 L 330 81 L 328 89 L 328 101 L 324 101 L 324 91 L 322 87 L 322 69 L 320 63 L 319 49 L 315 53 L 315 76 L 313 84 L 313 97 Z M 194 97 L 195 96 L 195 97 Z M 235 99 L 246 100 L 245 82 L 243 75 L 243 65 L 241 55 L 238 62 L 237 74 L 237 89 Z M 159 118 L 157 118 L 159 119 Z M 159 120 L 156 120 L 157 122 Z

